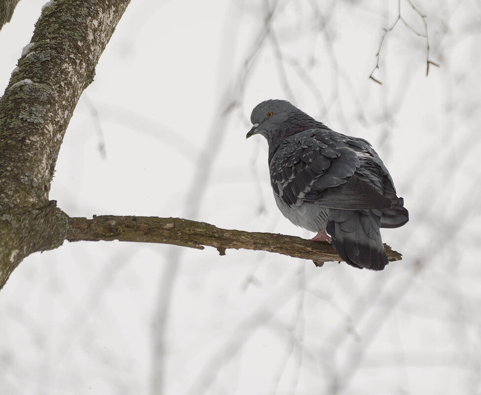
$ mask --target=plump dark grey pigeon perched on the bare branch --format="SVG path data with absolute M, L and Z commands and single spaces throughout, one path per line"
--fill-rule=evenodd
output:
M 277 207 L 292 223 L 328 241 L 357 268 L 389 263 L 379 228 L 404 225 L 409 215 L 389 172 L 364 139 L 336 133 L 284 100 L 254 108 L 246 138 L 269 145 L 270 181 Z

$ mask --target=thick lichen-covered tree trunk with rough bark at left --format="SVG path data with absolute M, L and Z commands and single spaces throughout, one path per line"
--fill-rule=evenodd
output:
M 48 192 L 67 125 L 130 0 L 57 0 L 0 99 L 0 288 L 28 254 L 58 247 L 67 216 Z

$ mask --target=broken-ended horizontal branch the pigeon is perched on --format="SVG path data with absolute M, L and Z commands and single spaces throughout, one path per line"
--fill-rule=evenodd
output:
M 204 249 L 203 246 L 210 246 L 216 248 L 221 255 L 225 255 L 229 248 L 269 251 L 311 259 L 318 266 L 324 262 L 342 260 L 329 243 L 274 233 L 222 229 L 209 223 L 183 218 L 115 215 L 94 216 L 93 219 L 69 218 L 67 240 L 161 243 L 200 250 Z M 390 261 L 401 260 L 399 252 L 391 250 L 386 244 L 384 249 Z

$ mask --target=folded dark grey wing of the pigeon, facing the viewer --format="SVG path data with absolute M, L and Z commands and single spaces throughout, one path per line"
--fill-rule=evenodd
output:
M 391 200 L 383 196 L 385 172 L 369 148 L 364 140 L 331 130 L 298 133 L 272 157 L 274 192 L 289 207 L 304 202 L 345 210 L 391 207 Z

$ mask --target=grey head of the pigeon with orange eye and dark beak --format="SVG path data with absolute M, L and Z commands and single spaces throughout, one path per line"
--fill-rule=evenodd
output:
M 259 103 L 252 110 L 251 122 L 254 126 L 247 133 L 246 138 L 262 135 L 267 141 L 271 141 L 274 135 L 282 130 L 282 124 L 289 119 L 298 118 L 299 114 L 308 116 L 285 100 L 266 100 Z

